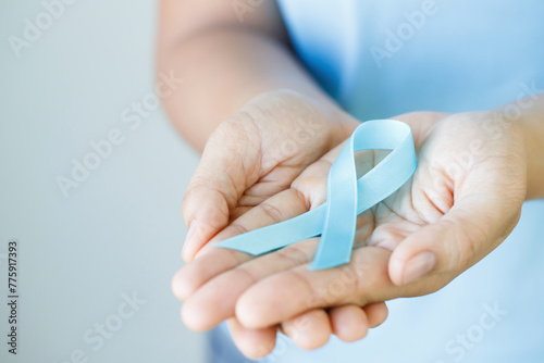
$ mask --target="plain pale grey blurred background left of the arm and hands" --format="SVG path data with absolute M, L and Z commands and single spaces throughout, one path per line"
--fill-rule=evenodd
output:
M 201 362 L 170 279 L 198 155 L 156 95 L 157 2 L 3 1 L 0 362 Z M 183 87 L 165 80 L 162 91 Z M 17 240 L 17 354 L 8 243 Z M 8 348 L 7 348 L 8 347 Z

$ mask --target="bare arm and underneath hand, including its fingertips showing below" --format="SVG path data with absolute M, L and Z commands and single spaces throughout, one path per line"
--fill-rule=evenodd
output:
M 243 127 L 236 127 L 244 118 L 239 111 L 257 96 L 280 105 L 288 103 L 292 107 L 289 112 L 282 113 L 282 117 L 288 115 L 290 121 L 290 124 L 287 121 L 281 123 L 282 135 L 276 134 L 280 128 L 274 126 L 272 120 L 272 128 L 264 129 L 270 132 L 264 134 L 270 138 L 263 138 L 269 151 L 258 155 L 258 159 L 262 157 L 267 161 L 265 168 L 257 171 L 246 180 L 245 175 L 240 176 L 243 173 L 239 167 L 244 163 L 239 162 L 242 159 L 236 154 L 237 146 L 231 143 L 234 149 L 224 153 L 225 157 L 228 155 L 228 160 L 223 159 L 222 163 L 225 166 L 232 164 L 232 168 L 215 174 L 211 179 L 201 179 L 199 183 L 197 177 L 193 182 L 191 191 L 184 199 L 184 218 L 188 226 L 193 221 L 198 221 L 195 235 L 199 240 L 185 243 L 183 256 L 186 261 L 190 261 L 199 248 L 227 226 L 233 217 L 288 189 L 293 179 L 306 166 L 342 142 L 357 125 L 298 64 L 289 49 L 287 34 L 274 1 L 264 1 L 258 10 L 245 16 L 244 22 L 236 16 L 231 1 L 161 1 L 157 67 L 158 72 L 173 71 L 176 77 L 185 79 L 184 85 L 162 102 L 175 127 L 198 151 L 202 151 L 211 138 L 217 142 L 228 142 L 232 137 L 244 138 Z M 289 96 L 296 95 L 299 101 L 279 100 L 285 99 L 282 96 L 284 91 L 280 90 L 288 90 Z M 262 104 L 269 104 L 269 101 L 264 100 Z M 233 114 L 239 116 L 232 116 Z M 317 120 L 318 126 L 313 135 L 316 140 L 312 140 L 312 147 L 306 148 L 307 152 L 304 153 L 299 149 L 288 153 L 279 152 L 274 149 L 274 142 L 279 137 L 290 135 L 297 114 L 302 114 L 305 120 L 311 114 Z M 233 160 L 237 162 L 232 163 Z M 254 158 L 254 161 L 257 159 Z M 208 167 L 211 171 L 220 162 L 221 160 L 210 160 Z M 231 176 L 235 178 L 227 185 L 226 178 Z M 251 191 L 242 190 L 240 184 L 251 184 Z M 246 197 L 238 206 L 238 199 L 244 193 Z M 224 196 L 227 198 L 223 198 Z M 345 341 L 356 340 L 364 336 L 369 327 L 381 324 L 387 315 L 384 303 L 373 304 L 369 309 L 346 304 L 321 311 L 327 313 L 326 320 L 322 318 L 324 314 L 311 311 L 307 316 L 312 326 L 319 327 L 305 333 L 308 335 L 306 341 L 314 341 L 313 346 L 300 346 L 316 348 L 324 343 L 327 337 L 318 341 L 312 338 L 316 331 L 337 333 Z M 343 326 L 338 322 L 343 321 L 358 322 L 358 329 L 338 328 Z M 231 326 L 233 324 L 236 322 L 231 321 Z M 286 321 L 285 324 L 292 323 Z M 273 347 L 276 328 L 281 329 L 281 325 L 255 331 L 246 328 L 244 334 L 234 334 L 234 339 L 242 348 L 264 347 L 254 351 L 242 349 L 248 356 L 260 356 Z M 239 331 L 240 329 L 236 330 Z

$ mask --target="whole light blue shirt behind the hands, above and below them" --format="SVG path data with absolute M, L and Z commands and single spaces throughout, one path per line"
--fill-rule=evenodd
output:
M 544 92 L 544 1 L 280 4 L 302 63 L 361 121 Z M 544 362 L 543 222 L 544 202 L 526 203 L 495 251 L 436 293 L 390 302 L 387 321 L 359 342 L 333 337 L 307 352 L 280 336 L 263 361 Z

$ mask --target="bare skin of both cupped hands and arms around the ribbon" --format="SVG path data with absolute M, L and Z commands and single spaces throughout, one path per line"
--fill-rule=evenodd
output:
M 244 23 L 230 7 L 161 9 L 159 68 L 187 78 L 163 102 L 182 134 L 206 145 L 183 203 L 190 263 L 172 284 L 190 328 L 228 320 L 251 358 L 271 351 L 276 329 L 306 349 L 331 334 L 360 339 L 386 318 L 383 301 L 442 288 L 508 236 L 523 200 L 544 196 L 542 158 L 532 158 L 544 154 L 542 97 L 515 120 L 500 110 L 413 113 L 395 118 L 412 127 L 417 174 L 359 216 L 349 264 L 309 272 L 316 239 L 259 258 L 213 248 L 322 203 L 329 167 L 358 124 L 297 64 L 273 2 Z M 383 157 L 361 153 L 359 173 Z M 420 252 L 432 263 L 410 264 Z M 417 276 L 415 265 L 429 272 Z

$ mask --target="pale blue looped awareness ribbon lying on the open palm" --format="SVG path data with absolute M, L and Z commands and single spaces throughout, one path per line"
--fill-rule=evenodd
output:
M 392 150 L 357 179 L 355 152 Z M 357 215 L 400 188 L 417 167 L 410 127 L 399 121 L 374 120 L 359 125 L 333 163 L 326 202 L 294 218 L 251 230 L 215 246 L 259 255 L 321 235 L 310 270 L 330 268 L 351 258 Z

